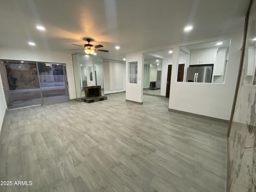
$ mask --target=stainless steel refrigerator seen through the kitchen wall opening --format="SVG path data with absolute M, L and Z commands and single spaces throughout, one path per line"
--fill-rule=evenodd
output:
M 204 66 L 189 66 L 187 70 L 187 82 L 212 82 L 213 64 Z

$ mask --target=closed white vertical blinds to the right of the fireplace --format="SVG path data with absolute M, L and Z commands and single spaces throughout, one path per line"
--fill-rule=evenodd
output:
M 124 88 L 125 65 L 118 62 L 103 60 L 104 90 Z

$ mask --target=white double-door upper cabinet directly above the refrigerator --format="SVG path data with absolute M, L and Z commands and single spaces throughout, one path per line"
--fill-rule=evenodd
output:
M 217 51 L 204 51 L 190 54 L 190 65 L 215 64 Z

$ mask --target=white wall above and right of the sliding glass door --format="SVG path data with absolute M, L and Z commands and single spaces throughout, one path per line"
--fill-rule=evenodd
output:
M 25 60 L 25 61 L 41 61 L 51 63 L 66 64 L 66 73 L 68 78 L 69 98 L 76 98 L 74 70 L 71 54 L 63 54 L 58 52 L 48 52 L 33 49 L 14 49 L 0 48 L 0 59 L 6 60 Z

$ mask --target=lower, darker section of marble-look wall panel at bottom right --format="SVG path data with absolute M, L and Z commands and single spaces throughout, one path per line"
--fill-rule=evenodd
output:
M 256 128 L 233 122 L 230 132 L 230 192 L 256 191 Z

